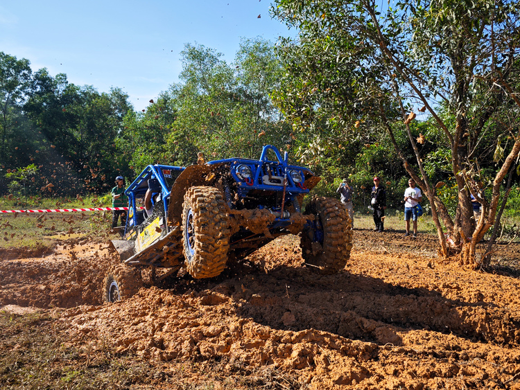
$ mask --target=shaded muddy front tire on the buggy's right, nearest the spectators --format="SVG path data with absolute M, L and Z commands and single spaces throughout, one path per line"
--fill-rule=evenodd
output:
M 352 249 L 352 224 L 345 206 L 330 197 L 315 197 L 305 209 L 313 215 L 316 229 L 302 231 L 300 247 L 307 265 L 323 274 L 333 274 L 345 268 Z

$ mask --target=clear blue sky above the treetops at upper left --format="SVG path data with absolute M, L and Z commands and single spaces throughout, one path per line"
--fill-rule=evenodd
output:
M 232 62 L 241 38 L 294 36 L 269 8 L 269 0 L 4 1 L 0 51 L 76 85 L 119 87 L 141 110 L 178 82 L 186 43 Z

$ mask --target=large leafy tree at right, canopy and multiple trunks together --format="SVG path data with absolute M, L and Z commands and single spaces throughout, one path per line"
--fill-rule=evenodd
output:
M 282 112 L 302 131 L 340 127 L 347 139 L 386 132 L 431 203 L 444 253 L 442 224 L 457 242 L 471 242 L 473 260 L 520 150 L 517 1 L 403 0 L 379 9 L 373 0 L 276 0 L 272 12 L 300 29 L 297 41 L 281 44 Z M 417 112 L 428 114 L 424 124 Z M 440 162 L 458 189 L 455 215 L 432 185 L 442 175 L 431 165 Z M 470 193 L 483 204 L 479 221 Z

